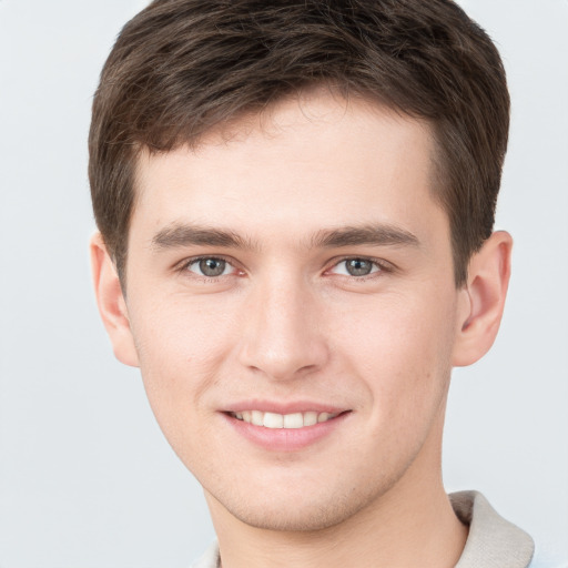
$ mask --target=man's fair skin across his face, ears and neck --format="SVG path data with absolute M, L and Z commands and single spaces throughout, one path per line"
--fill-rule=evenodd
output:
M 93 237 L 115 355 L 140 366 L 162 430 L 202 484 L 225 568 L 459 558 L 467 529 L 440 473 L 450 369 L 495 338 L 511 241 L 495 233 L 456 288 L 433 152 L 425 123 L 305 93 L 196 150 L 142 153 L 125 297 Z M 347 243 L 345 227 L 375 237 Z M 222 275 L 200 273 L 195 258 L 207 257 L 226 262 Z M 349 274 L 354 258 L 371 273 Z M 343 415 L 314 443 L 264 447 L 227 413 L 267 404 Z

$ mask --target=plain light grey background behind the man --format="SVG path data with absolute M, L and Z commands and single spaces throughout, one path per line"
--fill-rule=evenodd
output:
M 140 0 L 0 0 L 0 567 L 187 567 L 213 537 L 91 292 L 87 132 Z M 477 488 L 568 557 L 568 1 L 463 0 L 498 43 L 516 241 L 500 336 L 455 373 L 448 490 Z

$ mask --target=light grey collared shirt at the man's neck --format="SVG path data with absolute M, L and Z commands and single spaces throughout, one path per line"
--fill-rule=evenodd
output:
M 499 516 L 480 493 L 454 493 L 449 499 L 456 516 L 469 526 L 466 546 L 455 568 L 552 568 L 531 564 L 532 539 Z M 220 566 L 219 547 L 214 542 L 192 568 Z

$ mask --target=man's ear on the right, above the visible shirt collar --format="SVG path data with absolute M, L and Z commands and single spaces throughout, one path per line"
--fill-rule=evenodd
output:
M 509 233 L 497 231 L 469 262 L 467 284 L 460 291 L 454 366 L 471 365 L 495 342 L 509 285 L 511 248 Z

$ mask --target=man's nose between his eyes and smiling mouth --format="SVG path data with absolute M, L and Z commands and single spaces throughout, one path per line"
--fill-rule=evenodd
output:
M 273 381 L 321 369 L 328 348 L 314 294 L 301 278 L 271 278 L 255 286 L 243 315 L 240 361 Z

